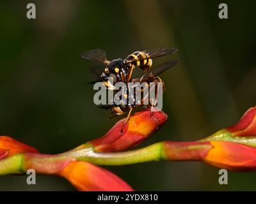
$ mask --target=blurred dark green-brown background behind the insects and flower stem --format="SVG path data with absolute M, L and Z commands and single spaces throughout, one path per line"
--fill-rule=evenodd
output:
M 36 4 L 36 19 L 26 5 Z M 228 19 L 218 18 L 227 3 Z M 104 135 L 116 119 L 93 104 L 93 62 L 81 52 L 102 48 L 108 59 L 136 50 L 175 47 L 180 62 L 161 77 L 168 122 L 139 147 L 193 141 L 230 126 L 256 104 L 256 2 L 203 0 L 1 1 L 0 135 L 48 154 Z M 107 166 L 141 191 L 256 190 L 256 173 L 228 172 L 197 162 Z M 0 190 L 74 191 L 58 177 L 0 177 Z

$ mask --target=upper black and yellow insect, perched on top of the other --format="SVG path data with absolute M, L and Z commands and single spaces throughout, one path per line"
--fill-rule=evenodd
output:
M 115 82 L 130 82 L 134 68 L 141 68 L 147 72 L 152 66 L 152 58 L 161 57 L 177 52 L 177 48 L 154 48 L 144 51 L 136 51 L 123 59 L 113 59 L 108 61 L 104 50 L 95 49 L 83 52 L 81 57 L 89 61 L 100 62 L 104 64 L 104 69 L 97 82 L 102 82 L 109 89 L 113 89 Z M 114 77 L 114 82 L 109 82 L 109 77 Z

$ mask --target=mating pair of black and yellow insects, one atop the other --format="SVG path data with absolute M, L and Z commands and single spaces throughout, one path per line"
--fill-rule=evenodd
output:
M 152 50 L 144 50 L 142 52 L 133 52 L 132 54 L 128 55 L 124 60 L 113 59 L 112 61 L 108 61 L 106 53 L 103 50 L 96 49 L 83 52 L 81 57 L 83 57 L 84 59 L 88 59 L 89 61 L 100 62 L 101 64 L 104 64 L 104 70 L 100 74 L 99 80 L 92 82 L 92 84 L 96 82 L 102 82 L 108 89 L 115 89 L 115 84 L 117 82 L 124 82 L 125 84 L 129 82 L 146 82 L 148 86 L 150 82 L 154 83 L 156 98 L 150 100 L 149 104 L 148 101 L 147 103 L 145 103 L 145 98 L 143 98 L 141 99 L 140 104 L 131 105 L 131 103 L 129 103 L 127 94 L 124 93 L 124 95 L 127 96 L 128 103 L 121 103 L 118 105 L 114 103 L 113 105 L 100 106 L 101 108 L 112 109 L 114 116 L 124 115 L 125 112 L 129 111 L 125 120 L 125 122 L 127 122 L 133 108 L 136 108 L 138 106 L 149 106 L 152 108 L 156 105 L 158 92 L 157 82 L 162 82 L 163 84 L 161 78 L 157 76 L 166 71 L 167 69 L 172 68 L 178 62 L 177 59 L 174 59 L 172 61 L 165 62 L 164 64 L 161 64 L 154 69 L 151 69 L 152 59 L 155 57 L 173 54 L 175 52 L 177 52 L 176 48 L 154 48 Z M 141 68 L 144 71 L 144 74 L 141 78 L 132 78 L 132 72 L 136 67 Z M 112 80 L 110 80 L 110 78 Z M 141 90 L 141 92 L 143 92 L 143 90 Z M 132 97 L 132 100 L 134 101 L 135 97 Z

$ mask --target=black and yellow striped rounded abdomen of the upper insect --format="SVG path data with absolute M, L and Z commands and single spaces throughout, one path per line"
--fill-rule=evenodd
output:
M 128 55 L 125 60 L 131 61 L 131 64 L 140 67 L 143 71 L 148 71 L 150 66 L 152 66 L 152 59 L 150 59 L 150 56 L 140 51 L 133 52 L 131 55 Z

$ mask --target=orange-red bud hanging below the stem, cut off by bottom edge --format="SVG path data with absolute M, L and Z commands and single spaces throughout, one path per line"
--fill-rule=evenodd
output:
M 74 161 L 60 173 L 79 191 L 133 191 L 110 171 L 85 161 Z

